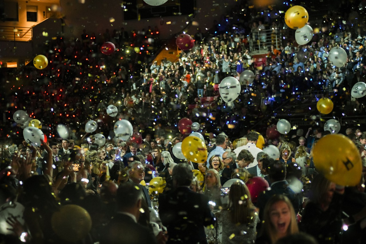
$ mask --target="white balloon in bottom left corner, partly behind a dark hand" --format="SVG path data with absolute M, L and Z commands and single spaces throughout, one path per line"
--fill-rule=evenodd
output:
M 36 128 L 37 129 L 37 128 Z M 17 221 L 19 221 L 20 225 L 24 225 L 24 206 L 18 202 L 7 202 L 1 205 L 0 207 L 0 233 L 4 235 L 12 235 L 14 232 L 12 230 L 12 226 L 9 225 L 6 221 L 9 217 L 14 217 Z

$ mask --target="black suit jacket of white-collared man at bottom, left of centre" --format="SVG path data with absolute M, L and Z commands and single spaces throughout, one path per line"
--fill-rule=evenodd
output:
M 157 243 L 155 236 L 150 230 L 136 223 L 130 216 L 117 213 L 108 223 L 104 231 L 101 244 L 154 244 Z

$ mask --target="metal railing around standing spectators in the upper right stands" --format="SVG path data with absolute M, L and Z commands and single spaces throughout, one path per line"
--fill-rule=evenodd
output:
M 274 45 L 276 49 L 281 45 L 281 33 L 278 29 L 269 30 L 255 30 L 249 34 L 249 48 L 251 52 L 255 51 L 268 51 L 271 45 Z

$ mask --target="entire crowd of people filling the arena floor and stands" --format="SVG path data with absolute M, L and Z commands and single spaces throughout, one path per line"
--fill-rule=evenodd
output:
M 341 3 L 340 9 L 355 4 Z M 364 23 L 350 16 L 342 21 L 343 12 L 335 11 L 300 47 L 285 36 L 280 11 L 268 13 L 257 15 L 242 1 L 212 30 L 195 33 L 194 48 L 174 62 L 154 60 L 163 43 L 157 27 L 106 30 L 99 36 L 84 30 L 72 41 L 61 36 L 49 41 L 45 69 L 25 66 L 14 77 L 2 77 L 14 82 L 11 95 L 1 101 L 8 123 L 0 131 L 0 201 L 22 204 L 24 210 L 0 219 L 8 228 L 0 227 L 0 242 L 364 243 L 366 132 L 344 132 L 359 149 L 363 174 L 358 185 L 342 186 L 318 173 L 313 162 L 314 145 L 329 131 L 303 128 L 304 135 L 298 128 L 265 138 L 264 147 L 280 152 L 271 158 L 257 145 L 258 133 L 248 130 L 284 100 L 309 93 L 322 94 L 314 99 L 332 96 L 333 114 L 365 114 L 364 98 L 350 96 L 352 86 L 366 77 Z M 269 41 L 263 29 L 284 36 L 279 47 L 275 42 L 264 47 L 268 53 L 259 62 L 251 56 L 248 35 Z M 117 47 L 112 55 L 100 52 L 106 41 Z M 332 47 L 346 50 L 344 67 L 329 63 Z M 239 80 L 244 70 L 254 72 L 254 81 L 243 84 L 227 106 L 219 84 L 227 76 Z M 115 117 L 107 114 L 108 105 L 117 107 Z M 48 141 L 41 147 L 19 136 L 27 125 L 10 122 L 22 108 L 42 122 Z M 174 153 L 186 136 L 177 130 L 184 117 L 200 123 L 206 163 Z M 130 121 L 143 141 L 116 136 L 119 119 Z M 97 122 L 105 145 L 83 130 L 89 120 Z M 68 139 L 58 138 L 60 123 L 68 127 Z M 268 125 L 254 129 L 264 134 Z M 156 185 L 157 177 L 164 183 Z M 253 179 L 267 187 L 253 195 Z M 67 219 L 61 222 L 65 229 L 55 227 L 53 216 L 68 205 L 87 212 L 90 228 L 68 230 Z

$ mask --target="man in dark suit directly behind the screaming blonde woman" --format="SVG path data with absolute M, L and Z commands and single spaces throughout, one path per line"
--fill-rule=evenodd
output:
M 296 194 L 288 185 L 286 178 L 286 164 L 276 160 L 269 166 L 269 179 L 272 182 L 270 185 L 270 190 L 266 190 L 258 196 L 257 207 L 259 208 L 259 219 L 263 219 L 263 211 L 266 203 L 273 195 L 285 195 L 290 199 L 292 205 L 294 206 L 295 214 L 298 213 L 301 196 Z M 261 214 L 262 212 L 262 214 Z

